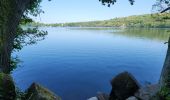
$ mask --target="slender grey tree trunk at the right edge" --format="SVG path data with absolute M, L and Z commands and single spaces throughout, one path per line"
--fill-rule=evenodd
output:
M 170 38 L 168 41 L 168 51 L 166 54 L 166 59 L 164 62 L 164 66 L 162 68 L 162 73 L 160 77 L 160 86 L 170 88 Z

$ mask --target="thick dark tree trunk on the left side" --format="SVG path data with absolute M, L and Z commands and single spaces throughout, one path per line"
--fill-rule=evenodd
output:
M 10 72 L 17 27 L 31 0 L 0 0 L 0 70 Z

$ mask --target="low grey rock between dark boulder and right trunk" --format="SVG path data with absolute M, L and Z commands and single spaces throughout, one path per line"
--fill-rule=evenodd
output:
M 141 100 L 150 100 L 153 96 L 155 96 L 159 91 L 159 85 L 147 85 L 141 89 L 139 89 L 135 96 Z

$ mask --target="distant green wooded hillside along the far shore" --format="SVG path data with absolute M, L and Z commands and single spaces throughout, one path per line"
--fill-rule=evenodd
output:
M 74 22 L 43 24 L 31 23 L 32 26 L 52 27 L 145 27 L 145 28 L 170 28 L 170 13 L 145 14 L 122 18 L 114 18 L 104 21 Z

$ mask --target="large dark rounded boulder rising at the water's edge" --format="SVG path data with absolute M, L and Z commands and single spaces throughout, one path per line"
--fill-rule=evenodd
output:
M 117 75 L 111 81 L 112 91 L 110 100 L 125 100 L 130 96 L 134 96 L 139 89 L 139 84 L 136 79 L 128 72 L 123 72 Z

